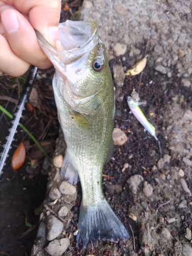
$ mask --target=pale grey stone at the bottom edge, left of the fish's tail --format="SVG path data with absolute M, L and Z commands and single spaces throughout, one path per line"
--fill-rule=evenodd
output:
M 68 238 L 62 238 L 59 240 L 54 240 L 45 248 L 45 250 L 51 255 L 51 256 L 61 256 L 68 248 L 69 246 L 69 239 Z

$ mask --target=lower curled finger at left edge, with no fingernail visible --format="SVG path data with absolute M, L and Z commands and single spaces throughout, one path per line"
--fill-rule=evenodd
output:
M 18 58 L 10 49 L 7 40 L 0 35 L 0 75 L 4 73 L 11 76 L 23 75 L 29 69 L 29 63 Z

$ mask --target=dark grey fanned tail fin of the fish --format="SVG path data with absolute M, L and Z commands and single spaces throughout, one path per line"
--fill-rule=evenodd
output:
M 98 207 L 84 206 L 81 203 L 76 245 L 80 250 L 86 249 L 91 241 L 97 240 L 116 242 L 116 239 L 128 240 L 129 233 L 114 214 L 105 199 Z

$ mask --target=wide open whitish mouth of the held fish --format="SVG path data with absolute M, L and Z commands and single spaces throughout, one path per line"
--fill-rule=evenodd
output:
M 60 39 L 56 39 L 56 48 L 36 31 L 42 50 L 57 70 L 61 69 L 62 65 L 67 65 L 84 55 L 89 55 L 97 45 L 97 24 L 94 21 L 74 22 L 67 20 L 59 24 L 58 28 Z

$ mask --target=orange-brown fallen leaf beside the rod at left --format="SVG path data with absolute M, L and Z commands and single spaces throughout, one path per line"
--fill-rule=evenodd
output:
M 13 166 L 14 169 L 18 169 L 20 166 L 23 165 L 23 163 L 25 162 L 25 157 L 26 157 L 26 151 L 25 151 L 25 146 L 23 141 L 18 145 L 18 147 L 16 148 L 12 160 L 11 160 L 11 164 Z

